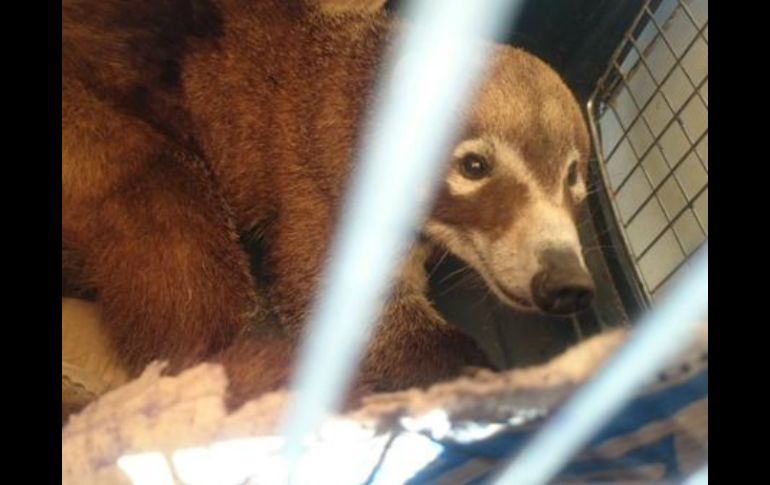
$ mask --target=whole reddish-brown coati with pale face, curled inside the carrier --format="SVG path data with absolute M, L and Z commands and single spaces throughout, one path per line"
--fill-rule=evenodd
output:
M 383 3 L 62 1 L 62 281 L 96 295 L 130 372 L 221 361 L 234 402 L 285 382 L 402 28 Z M 496 46 L 464 116 L 363 363 L 366 389 L 485 365 L 426 296 L 437 249 L 514 308 L 565 314 L 591 299 L 575 223 L 589 137 L 567 86 Z M 256 279 L 246 238 L 262 251 Z

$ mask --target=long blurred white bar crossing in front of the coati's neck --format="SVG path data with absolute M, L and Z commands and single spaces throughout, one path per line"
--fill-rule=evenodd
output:
M 368 336 L 432 199 L 459 128 L 458 114 L 486 61 L 479 39 L 512 21 L 518 0 L 413 1 L 364 137 L 325 284 L 293 380 L 285 417 L 289 465 L 338 409 Z

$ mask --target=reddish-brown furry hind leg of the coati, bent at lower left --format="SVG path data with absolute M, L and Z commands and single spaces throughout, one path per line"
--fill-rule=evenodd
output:
M 80 213 L 76 213 L 80 211 Z M 84 213 L 85 212 L 85 213 Z M 201 166 L 166 151 L 113 193 L 70 207 L 83 274 L 132 371 L 228 345 L 256 310 L 245 253 Z

